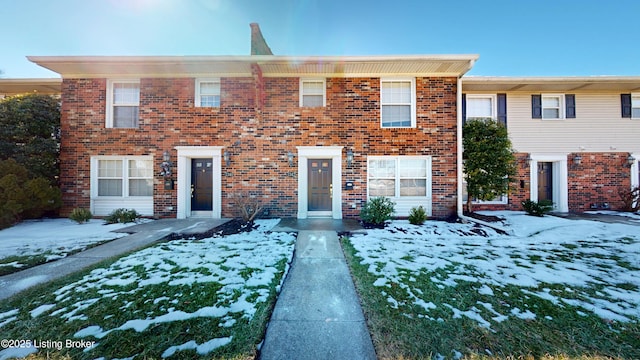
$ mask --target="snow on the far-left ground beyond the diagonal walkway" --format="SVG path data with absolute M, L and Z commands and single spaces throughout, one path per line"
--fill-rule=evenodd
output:
M 104 221 L 98 219 L 92 219 L 85 224 L 78 224 L 70 219 L 23 221 L 0 230 L 0 260 L 9 256 L 39 254 L 47 254 L 47 261 L 63 258 L 95 243 L 126 236 L 126 233 L 113 231 L 131 225 L 104 225 Z M 21 266 L 17 262 L 3 265 Z

